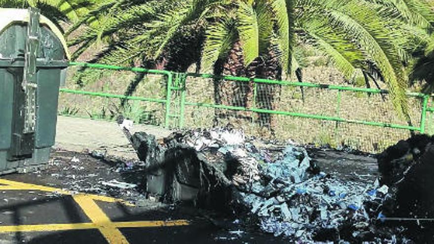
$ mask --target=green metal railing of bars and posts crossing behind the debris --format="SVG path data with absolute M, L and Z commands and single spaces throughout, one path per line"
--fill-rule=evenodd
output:
M 117 98 L 117 99 L 126 99 L 126 100 L 138 100 L 138 101 L 164 104 L 165 105 L 165 114 L 164 114 L 165 127 L 178 127 L 178 128 L 184 127 L 185 106 L 197 106 L 197 107 L 226 109 L 226 110 L 233 110 L 233 111 L 249 111 L 254 113 L 265 113 L 271 115 L 286 115 L 286 116 L 309 118 L 309 119 L 316 119 L 316 120 L 335 121 L 336 123 L 351 123 L 351 124 L 360 124 L 360 125 L 368 125 L 368 126 L 377 126 L 377 127 L 393 128 L 399 130 L 417 131 L 420 133 L 425 133 L 427 129 L 428 132 L 430 133 L 434 132 L 434 128 L 432 124 L 434 107 L 428 106 L 429 100 L 430 98 L 432 98 L 432 96 L 421 94 L 421 93 L 411 93 L 411 92 L 407 93 L 407 96 L 418 98 L 421 99 L 422 101 L 420 124 L 419 126 L 412 126 L 412 125 L 403 125 L 403 124 L 396 124 L 396 123 L 348 119 L 339 116 L 340 104 L 341 104 L 341 92 L 351 91 L 351 92 L 360 92 L 360 93 L 367 93 L 367 94 L 388 94 L 389 92 L 387 90 L 338 86 L 338 85 L 313 84 L 313 83 L 305 83 L 305 82 L 278 81 L 278 80 L 259 79 L 259 78 L 236 77 L 236 76 L 217 76 L 212 74 L 178 73 L 178 72 L 171 72 L 166 70 L 147 70 L 143 68 L 126 68 L 120 66 L 89 64 L 89 63 L 72 62 L 70 63 L 70 65 L 92 68 L 92 69 L 102 69 L 102 70 L 129 70 L 133 72 L 161 74 L 166 76 L 167 87 L 166 87 L 165 99 L 152 99 L 152 98 L 144 98 L 144 97 L 113 95 L 113 94 L 99 93 L 99 92 L 61 89 L 61 92 L 63 93 L 72 93 L 72 94 L 81 94 L 86 96 L 98 96 L 98 97 Z M 253 97 L 257 96 L 256 86 L 259 84 L 336 90 L 337 91 L 337 98 L 336 98 L 337 102 L 336 102 L 336 109 L 335 109 L 336 113 L 335 116 L 329 116 L 329 115 L 310 114 L 310 113 L 303 113 L 303 112 L 270 110 L 270 109 L 258 108 L 254 103 L 252 107 L 246 107 L 246 106 L 221 105 L 215 103 L 191 102 L 188 101 L 188 99 L 186 99 L 186 79 L 188 77 L 204 78 L 204 79 L 212 78 L 212 79 L 220 79 L 220 80 L 235 81 L 235 82 L 249 82 L 253 84 L 253 93 L 254 93 Z M 427 118 L 429 119 L 428 125 L 426 124 Z M 173 121 L 175 122 L 171 123 Z

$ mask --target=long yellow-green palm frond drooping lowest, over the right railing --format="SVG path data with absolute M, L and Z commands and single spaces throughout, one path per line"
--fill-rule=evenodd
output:
M 399 19 L 388 19 L 378 14 L 378 8 L 367 1 L 360 0 L 302 0 L 308 2 L 317 13 L 318 18 L 363 50 L 368 60 L 374 62 L 392 96 L 392 102 L 398 114 L 408 112 L 405 90 L 407 78 L 402 60 L 406 53 L 399 43 L 404 42 L 399 31 L 391 30 L 391 23 Z M 340 4 L 336 4 L 339 2 Z M 304 17 L 305 21 L 309 18 Z

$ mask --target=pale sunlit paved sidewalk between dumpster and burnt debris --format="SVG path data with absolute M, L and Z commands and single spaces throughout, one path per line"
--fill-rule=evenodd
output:
M 167 137 L 171 131 L 150 125 L 135 125 L 133 132 L 144 131 L 156 138 Z M 133 147 L 115 122 L 57 117 L 55 147 L 70 151 L 107 151 L 107 155 L 137 159 Z

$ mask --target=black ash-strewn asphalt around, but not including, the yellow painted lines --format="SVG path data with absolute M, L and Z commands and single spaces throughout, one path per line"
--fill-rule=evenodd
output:
M 140 162 L 106 157 L 99 152 L 56 149 L 52 151 L 46 169 L 1 177 L 72 192 L 115 197 L 136 205 L 127 207 L 122 204 L 98 202 L 99 207 L 116 222 L 176 219 L 187 219 L 191 222 L 191 225 L 181 227 L 121 229 L 131 244 L 143 243 L 144 238 L 152 243 L 287 243 L 282 238 L 259 231 L 240 230 L 237 225 L 231 224 L 233 219 L 219 213 L 149 200 L 141 190 L 144 174 Z M 133 185 L 136 187 L 131 187 Z M 3 191 L 1 199 L 0 226 L 89 222 L 88 217 L 69 196 L 37 191 Z M 97 230 L 0 234 L 1 244 L 80 242 L 107 243 Z

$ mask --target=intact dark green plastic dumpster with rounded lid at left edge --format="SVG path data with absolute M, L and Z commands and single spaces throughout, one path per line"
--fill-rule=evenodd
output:
M 37 9 L 0 8 L 0 174 L 48 162 L 69 54 Z

